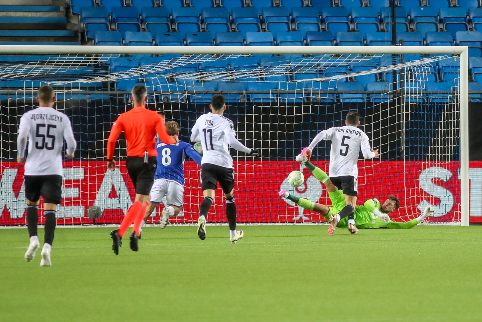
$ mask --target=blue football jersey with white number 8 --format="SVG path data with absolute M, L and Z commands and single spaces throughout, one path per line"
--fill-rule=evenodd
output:
M 154 179 L 167 179 L 184 185 L 184 160 L 186 155 L 201 166 L 201 155 L 190 144 L 179 141 L 174 144 L 156 143 L 157 168 Z

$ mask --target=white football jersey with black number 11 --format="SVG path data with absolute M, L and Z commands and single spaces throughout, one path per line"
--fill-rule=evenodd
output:
M 202 114 L 192 128 L 192 136 L 198 137 L 202 146 L 201 165 L 210 163 L 224 168 L 233 168 L 233 158 L 229 154 L 226 140 L 228 134 L 234 134 L 233 122 L 226 116 L 211 112 Z

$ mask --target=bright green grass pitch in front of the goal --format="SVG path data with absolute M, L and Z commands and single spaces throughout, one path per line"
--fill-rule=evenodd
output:
M 111 228 L 58 228 L 51 267 L 0 229 L 0 321 L 482 321 L 482 227 L 327 228 L 146 227 L 118 256 Z

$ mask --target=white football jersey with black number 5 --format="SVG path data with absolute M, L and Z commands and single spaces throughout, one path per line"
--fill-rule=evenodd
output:
M 367 135 L 355 126 L 336 126 L 324 130 L 323 140 L 331 140 L 330 177 L 358 177 L 358 157 L 362 149 L 370 150 Z

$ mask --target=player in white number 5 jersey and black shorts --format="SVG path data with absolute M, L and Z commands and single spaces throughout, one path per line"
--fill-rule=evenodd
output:
M 358 195 L 358 156 L 362 150 L 365 159 L 378 158 L 378 150 L 370 148 L 370 142 L 366 134 L 358 128 L 360 125 L 360 114 L 350 111 L 347 113 L 345 126 L 331 127 L 321 131 L 311 141 L 308 148 L 301 151 L 296 157 L 296 161 L 305 163 L 311 157 L 311 151 L 321 140 L 331 140 L 330 168 L 327 175 L 320 179 L 327 184 L 333 183 L 338 189 L 343 191 L 346 206 L 340 210 L 342 217 L 348 216 L 348 230 L 352 234 L 357 234 L 358 229 L 355 225 L 353 211 L 357 204 Z M 306 164 L 305 164 L 306 165 Z M 324 173 L 324 172 L 323 172 Z M 325 173 L 326 174 L 326 173 Z M 331 223 L 329 234 L 333 235 L 336 224 Z

